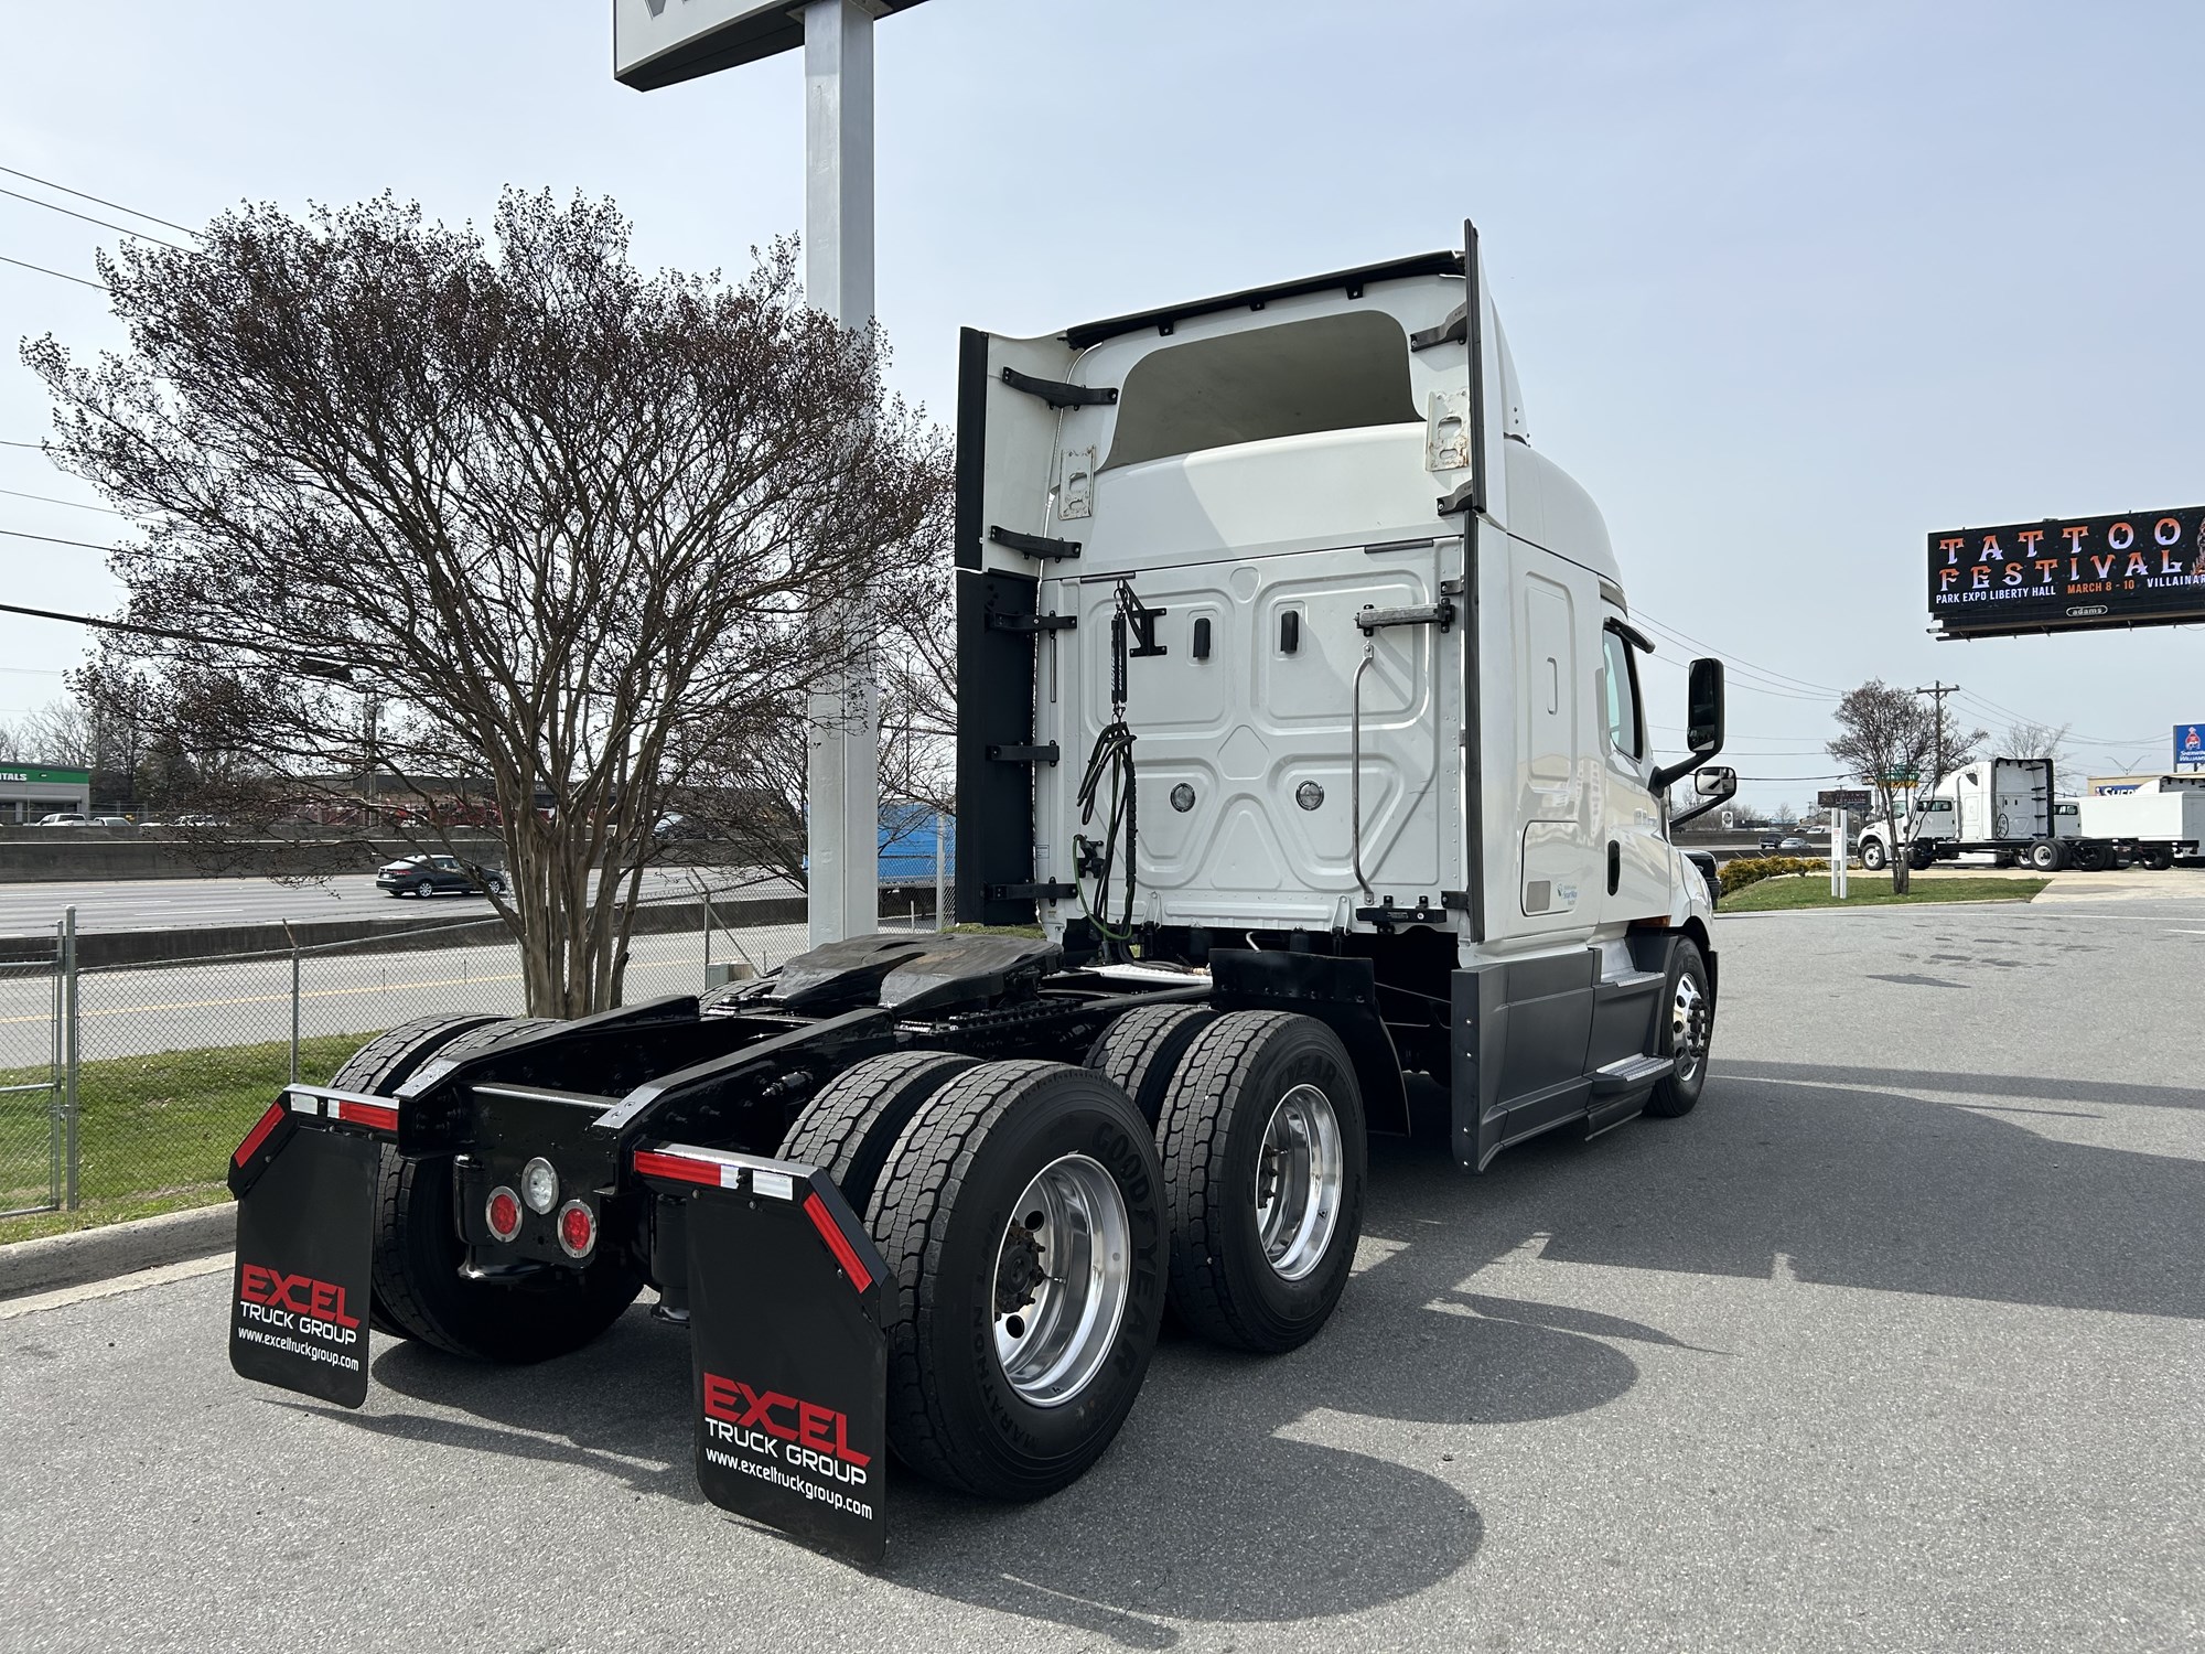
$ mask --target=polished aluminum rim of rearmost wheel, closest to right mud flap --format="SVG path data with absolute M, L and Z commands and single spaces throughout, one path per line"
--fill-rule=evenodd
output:
M 1133 1284 L 1131 1224 L 1100 1160 L 1067 1153 L 1025 1184 L 994 1259 L 994 1356 L 1034 1407 L 1061 1407 L 1102 1367 Z

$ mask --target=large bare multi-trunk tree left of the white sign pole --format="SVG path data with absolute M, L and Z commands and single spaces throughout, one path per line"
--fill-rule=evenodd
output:
M 878 333 L 805 309 L 794 249 L 644 276 L 611 203 L 507 192 L 490 236 L 390 196 L 216 218 L 104 260 L 128 348 L 24 362 L 49 454 L 130 514 L 126 620 L 79 697 L 214 809 L 390 776 L 404 831 L 476 778 L 531 1014 L 620 1001 L 644 864 L 684 794 L 759 785 L 789 710 L 922 615 L 942 437 Z M 390 803 L 379 798 L 379 803 Z

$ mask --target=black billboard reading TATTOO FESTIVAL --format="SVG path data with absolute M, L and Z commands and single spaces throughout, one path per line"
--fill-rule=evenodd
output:
M 1945 637 L 2205 622 L 2205 507 L 1932 534 L 1929 617 Z

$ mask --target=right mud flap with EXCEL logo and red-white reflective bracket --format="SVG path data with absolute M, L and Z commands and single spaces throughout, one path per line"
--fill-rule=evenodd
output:
M 686 1186 L 697 1482 L 723 1511 L 873 1564 L 889 1537 L 889 1266 L 827 1173 L 662 1145 Z

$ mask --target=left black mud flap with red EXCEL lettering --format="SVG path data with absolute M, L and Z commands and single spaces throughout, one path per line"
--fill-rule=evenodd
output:
M 359 1407 L 381 1149 L 340 1131 L 267 1138 L 262 1123 L 232 1171 L 234 1186 L 240 1171 L 254 1175 L 238 1191 L 229 1365 L 265 1385 Z

